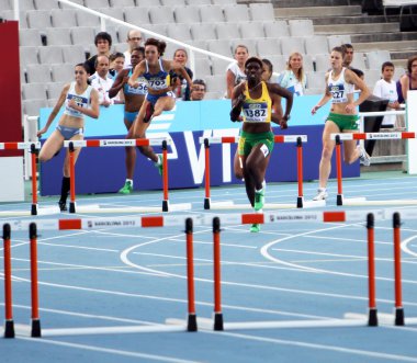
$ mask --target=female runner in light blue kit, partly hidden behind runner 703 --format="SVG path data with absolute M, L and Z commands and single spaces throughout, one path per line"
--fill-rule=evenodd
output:
M 136 120 L 137 114 L 145 101 L 147 86 L 145 79 L 138 79 L 139 87 L 134 88 L 127 84 L 127 80 L 132 76 L 133 69 L 136 65 L 144 59 L 143 49 L 140 47 L 134 48 L 131 53 L 132 68 L 123 69 L 117 75 L 113 87 L 109 90 L 109 97 L 113 98 L 119 94 L 120 90 L 124 95 L 124 124 L 127 132 L 131 129 L 133 122 Z M 123 188 L 119 191 L 122 194 L 129 194 L 133 191 L 133 174 L 135 172 L 136 149 L 134 147 L 126 147 L 126 181 Z

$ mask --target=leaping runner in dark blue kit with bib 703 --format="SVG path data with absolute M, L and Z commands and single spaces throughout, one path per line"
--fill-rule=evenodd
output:
M 166 46 L 165 42 L 155 38 L 147 39 L 145 43 L 145 60 L 135 67 L 133 75 L 128 79 L 128 86 L 133 88 L 140 86 L 140 82 L 137 81 L 139 77 L 144 77 L 148 84 L 148 93 L 133 127 L 127 134 L 128 138 L 144 138 L 153 117 L 159 116 L 162 111 L 173 109 L 176 99 L 170 88 L 170 70 L 181 75 L 192 87 L 192 81 L 181 65 L 174 60 L 164 60 L 161 58 Z M 159 173 L 162 174 L 161 155 L 157 156 L 150 146 L 140 146 L 139 150 L 155 162 Z

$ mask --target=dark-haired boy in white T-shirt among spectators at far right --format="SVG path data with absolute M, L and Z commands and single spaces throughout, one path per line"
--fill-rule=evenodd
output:
M 382 78 L 375 83 L 375 87 L 373 89 L 374 95 L 383 100 L 390 100 L 390 103 L 386 110 L 399 109 L 397 88 L 396 88 L 395 81 L 393 80 L 394 70 L 395 70 L 394 64 L 392 64 L 391 61 L 385 61 L 382 65 L 382 69 L 381 69 Z M 395 115 L 384 116 L 384 120 L 382 121 L 381 126 L 383 128 L 392 128 L 395 125 L 395 121 L 396 121 Z

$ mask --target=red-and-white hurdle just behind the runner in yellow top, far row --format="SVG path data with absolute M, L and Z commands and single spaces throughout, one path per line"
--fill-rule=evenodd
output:
M 210 146 L 213 144 L 236 144 L 239 137 L 218 136 L 200 137 L 200 144 L 204 144 L 205 179 L 204 179 L 204 209 L 244 209 L 251 208 L 250 204 L 234 204 L 233 202 L 211 202 L 211 167 L 210 167 Z M 303 143 L 307 141 L 306 135 L 274 135 L 275 144 L 296 143 L 297 148 L 297 198 L 295 204 L 267 203 L 264 209 L 275 208 L 303 208 L 308 206 L 324 206 L 324 201 L 304 202 L 303 194 Z

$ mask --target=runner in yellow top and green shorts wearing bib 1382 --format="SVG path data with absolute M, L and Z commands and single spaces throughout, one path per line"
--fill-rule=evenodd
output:
M 271 121 L 286 128 L 293 104 L 293 94 L 278 84 L 262 80 L 263 64 L 257 57 L 245 63 L 247 81 L 236 86 L 232 95 L 230 120 L 243 121 L 238 152 L 243 163 L 246 194 L 256 212 L 261 211 L 264 203 L 262 181 L 274 146 Z M 285 113 L 282 117 L 272 113 L 272 107 L 286 99 Z M 240 113 L 244 113 L 243 117 Z M 253 224 L 250 231 L 260 230 Z

